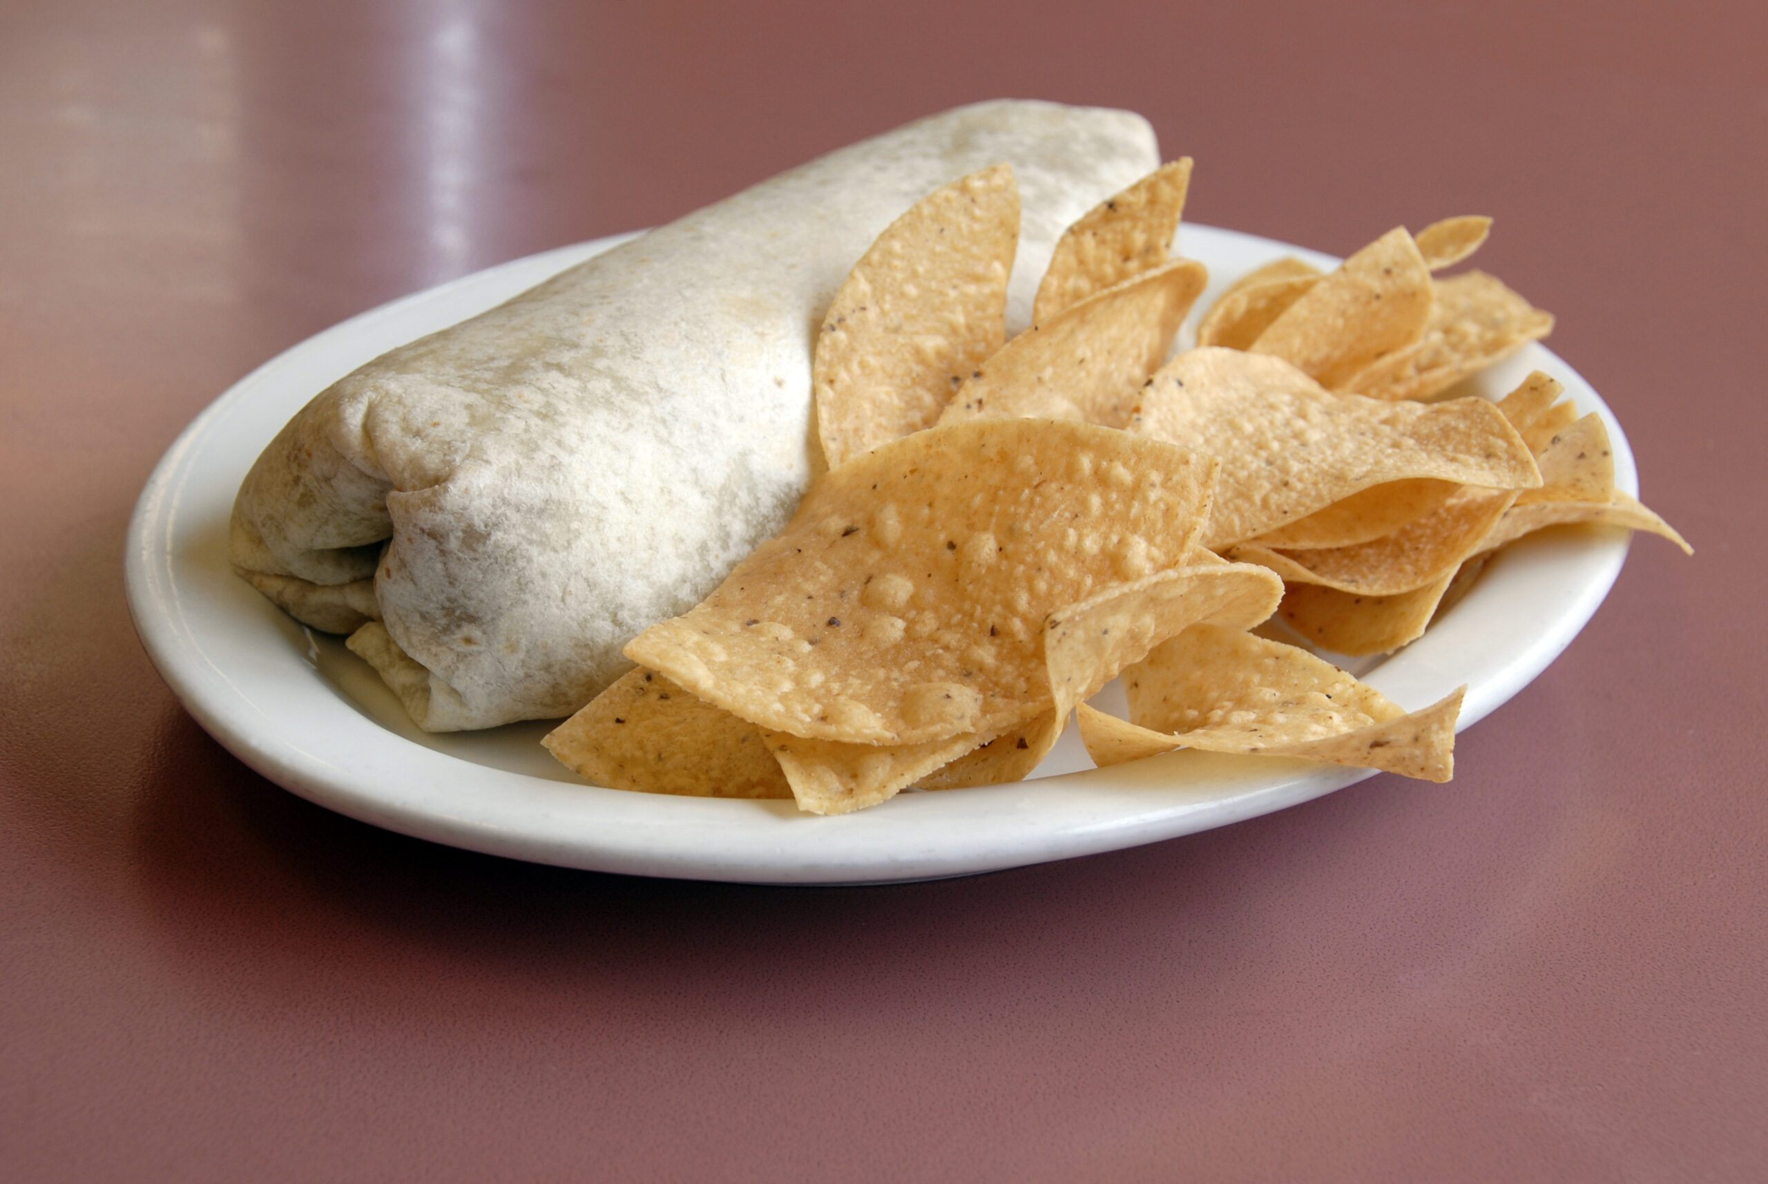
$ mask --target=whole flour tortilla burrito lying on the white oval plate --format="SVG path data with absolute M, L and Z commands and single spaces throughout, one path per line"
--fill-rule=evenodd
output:
M 1013 329 L 1063 228 L 1160 157 L 1128 111 L 983 102 L 652 230 L 320 392 L 240 486 L 235 571 L 350 633 L 421 728 L 571 714 L 792 516 L 820 463 L 815 336 L 849 269 L 1002 161 Z

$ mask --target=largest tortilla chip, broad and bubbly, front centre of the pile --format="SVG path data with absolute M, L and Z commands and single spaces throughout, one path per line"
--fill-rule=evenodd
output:
M 916 433 L 824 475 L 781 535 L 626 654 L 771 732 L 995 735 L 1048 707 L 1045 619 L 1176 565 L 1215 470 L 1073 422 Z

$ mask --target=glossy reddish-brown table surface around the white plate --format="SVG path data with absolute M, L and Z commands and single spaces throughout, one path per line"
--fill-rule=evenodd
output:
M 1764 46 L 1726 0 L 0 7 L 0 1177 L 1764 1179 Z M 126 521 L 248 369 L 1004 94 L 1144 111 L 1200 223 L 1496 216 L 1697 555 L 1637 539 L 1452 785 L 905 887 L 407 839 L 157 679 Z

